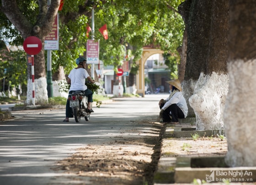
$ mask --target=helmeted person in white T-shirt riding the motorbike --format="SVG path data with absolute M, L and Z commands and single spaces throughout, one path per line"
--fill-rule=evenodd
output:
M 69 73 L 67 83 L 71 84 L 69 88 L 69 94 L 74 91 L 83 91 L 85 96 L 88 97 L 88 111 L 93 113 L 92 110 L 92 94 L 93 92 L 87 88 L 85 85 L 85 79 L 88 79 L 91 83 L 94 83 L 95 80 L 91 79 L 88 72 L 85 70 L 86 59 L 83 57 L 78 57 L 76 59 L 77 67 L 72 69 Z M 69 100 L 67 99 L 66 103 L 66 118 L 63 122 L 69 122 L 69 118 L 72 118 L 72 108 L 69 107 Z

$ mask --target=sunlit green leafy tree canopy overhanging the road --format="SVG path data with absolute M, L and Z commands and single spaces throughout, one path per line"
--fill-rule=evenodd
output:
M 3 13 L 0 1 L 0 39 L 10 44 L 22 45 L 21 33 Z M 52 0 L 51 3 L 57 0 Z M 178 62 L 176 48 L 181 45 L 184 23 L 177 13 L 183 0 L 68 0 L 59 11 L 59 50 L 53 51 L 53 72 L 64 66 L 66 73 L 74 67 L 74 59 L 85 55 L 87 26 L 91 26 L 91 10 L 94 9 L 94 39 L 100 40 L 100 60 L 105 65 L 122 65 L 123 57 L 136 62 L 143 46 L 153 46 L 165 51 L 169 61 Z M 41 9 L 47 0 L 16 0 L 16 9 L 30 21 L 37 23 Z M 37 15 L 37 16 L 35 16 Z M 18 18 L 17 18 L 18 19 Z M 22 20 L 21 20 L 22 21 Z M 25 24 L 25 23 L 24 23 Z M 108 39 L 105 40 L 98 29 L 107 24 Z M 43 29 L 43 28 L 42 28 Z M 28 34 L 29 35 L 29 34 Z M 46 53 L 46 52 L 45 52 Z M 173 65 L 168 65 L 173 66 Z M 35 69 L 36 70 L 36 69 Z

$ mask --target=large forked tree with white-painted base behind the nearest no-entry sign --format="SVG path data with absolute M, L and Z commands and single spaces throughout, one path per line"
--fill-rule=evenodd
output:
M 25 40 L 28 36 L 37 36 L 44 47 L 44 39 L 52 30 L 55 16 L 58 13 L 60 0 L 52 0 L 47 5 L 47 0 L 36 1 L 20 1 L 20 0 L 1 0 L 0 10 L 8 18 L 4 21 L 7 25 L 11 24 L 19 31 Z M 25 5 L 24 5 L 25 4 Z M 31 11 L 29 13 L 29 11 Z M 3 24 L 3 23 L 2 23 Z M 47 85 L 44 49 L 34 56 L 35 67 L 35 99 L 36 101 L 47 100 Z M 27 103 L 32 103 L 32 76 L 31 66 L 27 65 Z

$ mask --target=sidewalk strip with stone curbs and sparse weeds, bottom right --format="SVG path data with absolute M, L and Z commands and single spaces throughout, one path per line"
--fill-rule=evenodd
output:
M 225 164 L 227 140 L 219 137 L 224 136 L 224 130 L 200 131 L 195 123 L 196 118 L 185 118 L 179 124 L 166 125 L 154 185 L 212 185 L 223 184 L 223 180 L 230 185 L 255 184 L 256 167 L 231 168 Z M 195 134 L 198 139 L 194 140 Z

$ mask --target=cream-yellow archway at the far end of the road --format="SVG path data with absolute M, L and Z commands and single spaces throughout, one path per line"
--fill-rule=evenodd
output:
M 139 64 L 139 72 L 136 75 L 136 89 L 137 93 L 142 95 L 142 97 L 145 96 L 145 81 L 144 81 L 144 65 L 147 59 L 154 54 L 158 53 L 164 53 L 164 51 L 149 47 L 144 47 L 141 59 L 138 61 Z

